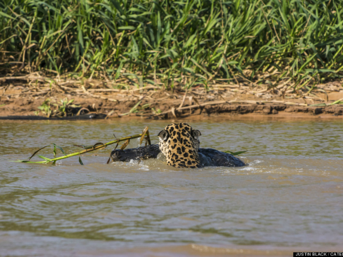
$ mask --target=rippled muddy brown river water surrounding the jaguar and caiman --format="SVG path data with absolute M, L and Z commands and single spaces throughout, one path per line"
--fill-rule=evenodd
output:
M 72 153 L 73 144 L 139 134 L 146 125 L 156 143 L 169 123 L 0 121 L 0 256 L 343 251 L 342 121 L 189 121 L 201 147 L 248 150 L 239 156 L 244 167 L 106 164 L 114 145 L 81 156 L 83 166 L 77 157 L 56 165 L 9 162 L 50 143 Z M 52 150 L 41 154 L 52 157 Z

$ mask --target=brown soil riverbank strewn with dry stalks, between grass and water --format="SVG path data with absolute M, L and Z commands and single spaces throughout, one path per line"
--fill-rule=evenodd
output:
M 58 103 L 67 98 L 87 108 L 87 112 L 117 118 L 343 118 L 343 104 L 332 104 L 343 101 L 343 81 L 296 92 L 285 84 L 272 89 L 268 85 L 252 88 L 244 83 L 214 84 L 207 90 L 197 87 L 187 91 L 151 85 L 144 88 L 120 85 L 98 80 L 51 80 L 39 75 L 2 77 L 0 116 L 35 115 L 47 98 Z

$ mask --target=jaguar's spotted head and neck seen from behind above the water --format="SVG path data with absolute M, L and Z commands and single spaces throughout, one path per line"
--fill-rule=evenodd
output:
M 160 138 L 160 151 L 166 156 L 167 164 L 174 167 L 199 168 L 198 149 L 200 131 L 193 130 L 187 123 L 172 123 L 162 130 Z

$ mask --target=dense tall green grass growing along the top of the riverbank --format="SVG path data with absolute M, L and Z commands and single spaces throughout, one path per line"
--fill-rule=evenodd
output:
M 343 76 L 343 0 L 1 0 L 3 72 L 166 87 Z M 2 73 L 3 73 L 2 72 Z

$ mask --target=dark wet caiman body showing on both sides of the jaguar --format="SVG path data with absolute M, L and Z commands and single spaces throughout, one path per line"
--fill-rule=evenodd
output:
M 131 149 L 115 149 L 111 152 L 111 158 L 114 162 L 129 162 L 131 160 L 147 160 L 157 158 L 160 153 L 159 145 L 152 144 Z M 240 167 L 245 166 L 237 157 L 229 153 L 224 153 L 212 148 L 199 148 L 198 155 L 203 167 L 206 166 L 225 166 L 225 167 Z

